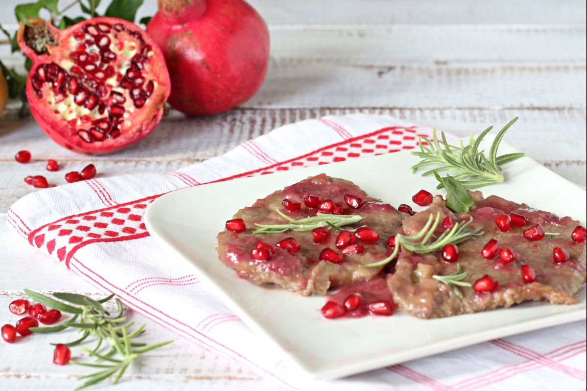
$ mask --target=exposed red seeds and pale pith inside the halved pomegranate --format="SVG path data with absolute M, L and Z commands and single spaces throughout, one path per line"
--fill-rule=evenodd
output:
M 142 33 L 99 22 L 72 33 L 58 63 L 39 65 L 31 79 L 38 98 L 68 121 L 70 132 L 85 142 L 117 138 L 144 106 L 156 80 L 147 80 L 154 56 Z

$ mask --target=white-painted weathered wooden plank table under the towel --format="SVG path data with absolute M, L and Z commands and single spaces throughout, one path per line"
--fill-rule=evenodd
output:
M 16 25 L 2 0 L 0 22 Z M 154 0 L 140 15 L 152 14 Z M 157 131 L 118 154 L 76 155 L 46 138 L 16 104 L 0 120 L 0 308 L 23 288 L 98 294 L 6 227 L 11 203 L 34 191 L 23 182 L 32 165 L 14 154 L 57 159 L 50 182 L 89 162 L 100 175 L 170 171 L 222 154 L 282 124 L 326 114 L 390 114 L 458 135 L 520 120 L 507 140 L 548 168 L 586 183 L 585 2 L 567 0 L 254 0 L 271 31 L 271 63 L 257 96 L 210 118 L 172 111 Z M 21 60 L 0 49 L 7 63 Z M 37 164 L 41 168 L 43 165 Z M 58 182 L 59 181 L 59 182 Z M 134 320 L 143 321 L 139 314 Z M 0 311 L 0 324 L 14 323 Z M 153 352 L 116 389 L 275 390 L 245 368 L 149 322 L 147 341 L 175 339 Z M 83 368 L 52 364 L 54 337 L 0 341 L 0 389 L 73 389 Z M 128 381 L 132 380 L 132 381 Z

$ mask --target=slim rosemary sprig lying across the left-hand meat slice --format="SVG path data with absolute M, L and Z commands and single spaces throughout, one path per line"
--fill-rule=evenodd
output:
M 363 217 L 359 215 L 326 215 L 325 213 L 316 213 L 316 216 L 304 217 L 303 219 L 295 220 L 285 215 L 279 209 L 275 209 L 279 216 L 288 220 L 288 224 L 256 224 L 259 229 L 254 230 L 252 234 L 260 233 L 282 233 L 287 230 L 294 232 L 311 231 L 318 227 L 328 227 L 328 229 L 338 229 L 339 227 L 360 223 Z

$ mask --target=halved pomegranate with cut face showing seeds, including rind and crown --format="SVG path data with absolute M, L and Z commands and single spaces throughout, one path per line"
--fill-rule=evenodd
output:
M 21 22 L 18 44 L 33 61 L 26 96 L 54 141 L 87 155 L 106 154 L 149 134 L 170 91 L 156 43 L 133 23 L 93 18 L 59 30 Z

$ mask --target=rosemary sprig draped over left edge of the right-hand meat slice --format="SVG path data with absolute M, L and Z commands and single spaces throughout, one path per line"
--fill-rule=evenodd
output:
M 400 248 L 408 251 L 409 253 L 418 253 L 418 254 L 426 254 L 432 253 L 433 251 L 440 251 L 446 244 L 458 244 L 464 242 L 471 237 L 481 236 L 483 235 L 483 228 L 478 227 L 477 229 L 470 229 L 469 226 L 473 222 L 473 217 L 471 217 L 468 222 L 457 222 L 454 227 L 451 229 L 445 230 L 440 236 L 434 238 L 434 242 L 430 242 L 430 240 L 434 236 L 434 231 L 438 227 L 438 223 L 440 223 L 440 212 L 436 214 L 436 219 L 434 216 L 430 214 L 426 225 L 420 230 L 420 232 L 412 235 L 412 236 L 405 236 L 402 234 L 396 235 L 396 247 L 393 249 L 393 253 L 387 257 L 386 259 L 363 265 L 365 267 L 376 267 L 376 266 L 383 266 L 384 264 L 389 263 L 399 253 Z

